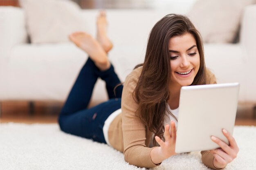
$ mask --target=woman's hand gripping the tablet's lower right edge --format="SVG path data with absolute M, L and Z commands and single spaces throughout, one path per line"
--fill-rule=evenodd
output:
M 214 155 L 213 166 L 215 168 L 225 168 L 228 163 L 236 158 L 239 151 L 234 137 L 225 129 L 222 130 L 222 133 L 229 140 L 229 146 L 217 137 L 211 137 L 211 139 L 220 146 L 220 149 L 210 150 Z

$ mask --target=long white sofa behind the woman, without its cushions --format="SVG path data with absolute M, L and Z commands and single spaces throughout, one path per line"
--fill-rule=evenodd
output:
M 87 32 L 95 35 L 98 10 L 83 10 Z M 168 12 L 170 13 L 170 11 Z M 148 34 L 166 11 L 107 10 L 108 35 L 114 43 L 110 60 L 121 79 L 143 62 Z M 239 102 L 256 104 L 256 5 L 246 7 L 240 42 L 204 44 L 205 60 L 218 83 L 239 82 Z M 0 101 L 64 101 L 87 54 L 72 43 L 29 44 L 25 13 L 21 8 L 0 7 Z M 107 99 L 98 81 L 93 97 Z M 96 104 L 95 103 L 95 104 Z

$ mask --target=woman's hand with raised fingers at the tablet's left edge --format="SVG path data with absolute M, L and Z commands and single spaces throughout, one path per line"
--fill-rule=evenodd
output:
M 155 137 L 155 140 L 161 147 L 162 155 L 167 159 L 168 157 L 171 157 L 173 155 L 176 155 L 175 153 L 175 144 L 176 144 L 176 127 L 175 122 L 171 121 L 171 134 L 170 134 L 170 125 L 166 124 L 164 127 L 164 137 L 165 141 L 162 141 L 158 136 Z

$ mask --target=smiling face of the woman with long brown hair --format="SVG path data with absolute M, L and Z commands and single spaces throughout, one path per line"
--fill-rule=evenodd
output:
M 192 84 L 200 66 L 200 55 L 191 33 L 174 36 L 169 40 L 171 87 L 181 88 Z

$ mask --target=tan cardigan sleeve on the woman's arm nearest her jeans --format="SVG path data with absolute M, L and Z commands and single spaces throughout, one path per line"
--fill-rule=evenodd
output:
M 154 164 L 150 158 L 153 148 L 146 147 L 146 126 L 135 115 L 138 104 L 133 99 L 133 91 L 137 86 L 139 77 L 128 75 L 124 83 L 122 93 L 122 130 L 124 138 L 124 159 L 131 165 L 145 168 L 153 168 Z

